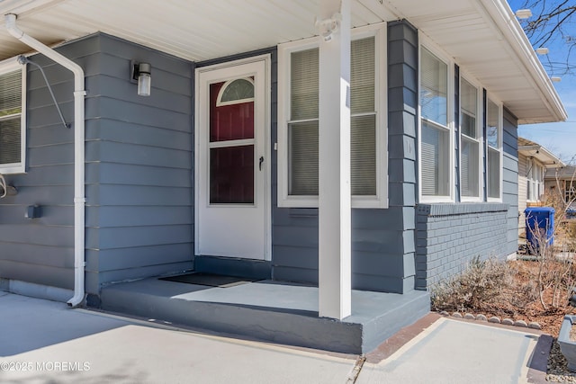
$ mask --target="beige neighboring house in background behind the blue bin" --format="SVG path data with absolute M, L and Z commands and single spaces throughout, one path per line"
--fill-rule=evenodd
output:
M 562 168 L 563 161 L 545 147 L 518 137 L 518 232 L 526 232 L 527 207 L 542 206 L 545 174 Z

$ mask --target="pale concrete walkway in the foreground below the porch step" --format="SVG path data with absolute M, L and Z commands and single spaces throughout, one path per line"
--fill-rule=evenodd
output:
M 0 291 L 3 383 L 517 383 L 538 336 L 439 318 L 382 362 L 69 309 Z

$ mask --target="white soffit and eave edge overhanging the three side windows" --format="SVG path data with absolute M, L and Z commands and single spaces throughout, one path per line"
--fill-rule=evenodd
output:
M 566 111 L 505 0 L 389 0 L 519 122 L 563 121 Z

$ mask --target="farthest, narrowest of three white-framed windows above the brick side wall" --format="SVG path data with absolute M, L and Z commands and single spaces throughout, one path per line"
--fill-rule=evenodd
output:
M 502 180 L 502 121 L 500 106 L 488 98 L 486 103 L 486 193 L 500 199 Z

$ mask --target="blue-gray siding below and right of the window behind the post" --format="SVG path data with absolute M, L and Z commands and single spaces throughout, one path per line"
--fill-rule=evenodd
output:
M 415 274 L 418 103 L 418 33 L 409 23 L 389 24 L 388 60 L 390 208 L 352 210 L 352 286 L 406 292 Z M 277 208 L 273 188 L 274 278 L 317 283 L 318 210 Z

